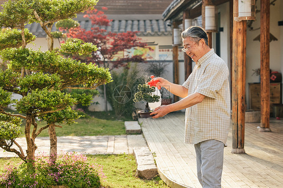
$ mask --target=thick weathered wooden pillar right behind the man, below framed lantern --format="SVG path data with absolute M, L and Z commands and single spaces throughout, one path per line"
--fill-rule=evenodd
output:
M 246 34 L 247 21 L 234 21 L 232 57 L 232 153 L 245 153 Z

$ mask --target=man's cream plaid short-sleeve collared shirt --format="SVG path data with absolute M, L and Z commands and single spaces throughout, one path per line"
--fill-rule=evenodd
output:
M 226 144 L 230 125 L 229 69 L 211 49 L 196 63 L 183 84 L 188 95 L 200 93 L 201 103 L 186 109 L 185 142 L 196 144 L 216 139 Z

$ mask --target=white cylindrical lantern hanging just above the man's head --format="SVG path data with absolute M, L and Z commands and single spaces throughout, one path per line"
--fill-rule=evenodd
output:
M 205 31 L 215 32 L 216 23 L 215 23 L 215 6 L 209 5 L 205 6 Z

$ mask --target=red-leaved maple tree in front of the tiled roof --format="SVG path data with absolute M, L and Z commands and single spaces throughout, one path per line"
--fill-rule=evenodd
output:
M 104 8 L 105 10 L 107 8 Z M 96 45 L 98 50 L 93 52 L 91 57 L 84 57 L 85 62 L 96 62 L 100 67 L 109 68 L 110 71 L 118 67 L 126 67 L 128 62 L 143 62 L 144 54 L 127 55 L 126 51 L 132 48 L 148 48 L 146 43 L 140 42 L 136 36 L 137 32 L 111 33 L 104 28 L 109 26 L 112 20 L 108 20 L 102 11 L 90 10 L 85 16 L 94 25 L 90 31 L 79 27 L 68 30 L 67 36 L 81 39 L 84 42 Z M 64 28 L 65 29 L 65 28 Z M 119 56 L 119 53 L 122 55 Z M 80 57 L 76 57 L 80 58 Z M 106 86 L 104 85 L 105 109 L 107 111 Z

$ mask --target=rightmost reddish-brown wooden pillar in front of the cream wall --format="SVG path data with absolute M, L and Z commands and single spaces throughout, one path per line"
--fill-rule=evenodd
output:
M 269 75 L 269 31 L 270 2 L 260 1 L 260 128 L 259 131 L 271 131 L 270 116 L 270 75 Z

